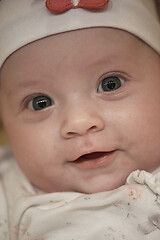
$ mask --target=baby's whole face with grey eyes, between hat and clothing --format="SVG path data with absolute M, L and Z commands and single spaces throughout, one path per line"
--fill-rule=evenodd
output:
M 1 73 L 1 114 L 14 155 L 47 192 L 95 193 L 160 165 L 160 58 L 120 30 L 36 41 Z

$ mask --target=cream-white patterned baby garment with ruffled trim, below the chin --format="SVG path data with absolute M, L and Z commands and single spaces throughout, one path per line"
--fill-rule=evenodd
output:
M 46 194 L 0 149 L 1 240 L 158 240 L 160 168 L 97 194 Z

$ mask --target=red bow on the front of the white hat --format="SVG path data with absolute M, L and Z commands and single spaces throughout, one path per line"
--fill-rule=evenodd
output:
M 47 0 L 46 6 L 53 12 L 65 12 L 71 8 L 102 8 L 109 0 L 80 0 L 75 6 L 72 0 Z

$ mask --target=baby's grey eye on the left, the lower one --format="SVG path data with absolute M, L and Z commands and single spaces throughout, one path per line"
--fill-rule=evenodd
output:
M 30 101 L 28 108 L 34 111 L 40 111 L 53 105 L 53 101 L 47 96 L 37 96 Z

